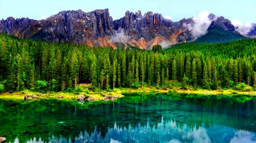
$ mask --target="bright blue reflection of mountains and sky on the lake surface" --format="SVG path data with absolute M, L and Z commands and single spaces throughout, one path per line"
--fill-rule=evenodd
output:
M 18 143 L 18 138 L 15 139 L 15 143 Z M 41 138 L 31 138 L 27 143 L 41 143 Z M 102 137 L 101 133 L 95 128 L 94 132 L 80 132 L 74 141 L 71 138 L 55 137 L 49 138 L 49 142 L 256 142 L 256 134 L 242 131 L 226 126 L 210 125 L 206 128 L 204 124 L 199 128 L 189 128 L 187 124 L 179 126 L 175 120 L 162 122 L 150 126 L 150 121 L 147 120 L 145 125 L 138 124 L 137 127 L 129 125 L 126 127 L 118 127 L 114 124 L 114 127 L 109 128 L 108 132 Z

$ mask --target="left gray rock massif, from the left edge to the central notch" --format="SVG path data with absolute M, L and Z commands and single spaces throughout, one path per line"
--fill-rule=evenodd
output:
M 61 11 L 40 21 L 27 18 L 14 20 L 10 17 L 1 20 L 0 32 L 34 40 L 69 41 L 89 46 L 104 46 L 98 39 L 114 33 L 108 9 L 88 13 L 81 10 Z

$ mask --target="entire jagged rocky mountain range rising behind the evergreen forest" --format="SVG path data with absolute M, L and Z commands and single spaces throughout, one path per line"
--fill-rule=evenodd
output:
M 205 34 L 216 26 L 222 27 L 224 33 L 237 33 L 231 22 L 222 16 L 216 18 L 209 14 L 207 20 L 209 25 L 199 23 L 194 18 L 174 22 L 151 11 L 143 16 L 141 11 L 127 11 L 123 18 L 113 21 L 108 9 L 92 12 L 77 10 L 61 11 L 44 20 L 9 17 L 0 21 L 0 32 L 33 40 L 40 38 L 51 42 L 68 41 L 89 46 L 130 46 L 141 49 L 151 49 L 156 44 L 167 47 L 194 41 L 201 36 L 196 30 Z

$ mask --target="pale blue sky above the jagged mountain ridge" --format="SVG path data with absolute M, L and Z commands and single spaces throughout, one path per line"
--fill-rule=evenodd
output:
M 63 10 L 82 10 L 90 12 L 109 8 L 113 20 L 120 19 L 127 10 L 147 11 L 162 14 L 172 21 L 199 16 L 201 11 L 208 11 L 217 16 L 224 16 L 230 21 L 245 25 L 247 21 L 256 23 L 256 0 L 0 0 L 0 19 L 9 16 L 16 18 L 44 19 Z

